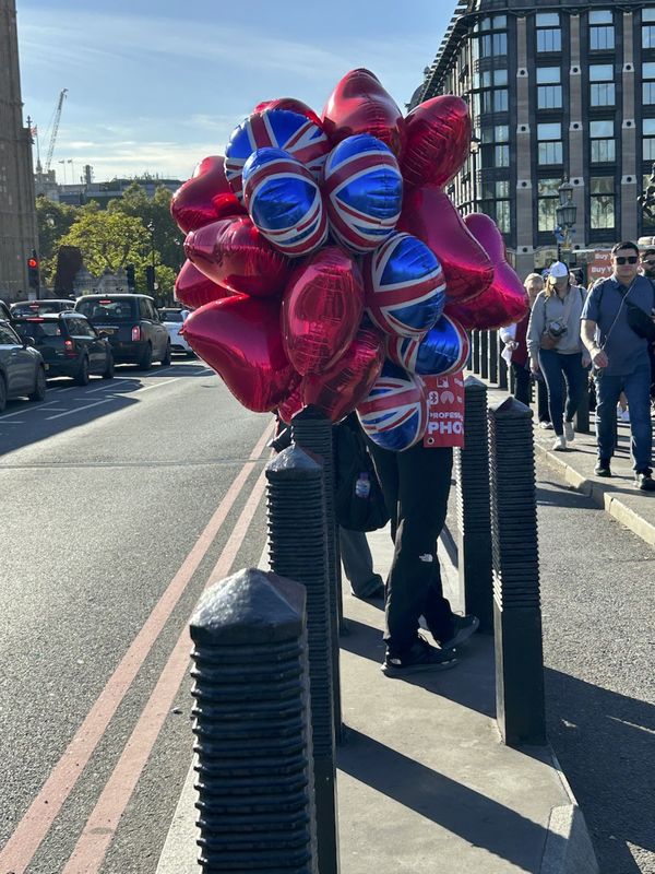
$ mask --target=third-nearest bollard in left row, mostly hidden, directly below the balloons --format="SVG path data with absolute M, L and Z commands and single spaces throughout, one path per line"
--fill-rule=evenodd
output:
M 306 406 L 291 420 L 294 441 L 302 449 L 319 456 L 323 462 L 325 492 L 325 523 L 327 525 L 327 577 L 330 580 L 330 618 L 332 623 L 332 674 L 334 693 L 334 736 L 342 741 L 341 680 L 338 663 L 338 633 L 342 625 L 341 551 L 338 528 L 334 509 L 335 476 L 334 448 L 332 445 L 332 423 L 317 410 Z

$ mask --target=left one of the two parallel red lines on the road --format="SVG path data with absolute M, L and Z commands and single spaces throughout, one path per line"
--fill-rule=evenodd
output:
M 214 542 L 218 530 L 248 480 L 254 462 L 263 452 L 273 427 L 274 423 L 270 423 L 258 440 L 248 461 L 237 474 L 206 528 L 130 645 L 120 664 L 107 681 L 105 688 L 50 772 L 38 795 L 4 845 L 0 852 L 0 872 L 2 874 L 4 872 L 24 874 L 103 737 L 107 725 L 130 688 L 157 636 Z

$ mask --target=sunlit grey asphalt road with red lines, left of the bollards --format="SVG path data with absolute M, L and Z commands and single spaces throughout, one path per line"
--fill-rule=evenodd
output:
M 242 542 L 235 522 L 267 457 L 248 461 L 270 421 L 200 363 L 118 367 L 115 380 L 84 388 L 53 380 L 46 402 L 12 402 L 0 416 L 2 874 L 156 870 L 191 746 L 188 680 L 176 694 L 172 672 L 163 696 L 157 684 L 226 544 L 235 568 L 259 560 L 262 501 Z M 234 505 L 219 524 L 226 498 Z M 174 578 L 175 595 L 157 606 Z M 156 610 L 160 631 L 146 623 Z M 117 770 L 127 806 L 116 825 L 120 811 L 103 807 L 103 790 L 135 727 L 132 749 L 157 719 L 133 792 Z M 90 862 L 87 840 L 68 862 L 97 802 L 84 834 L 106 834 L 106 855 Z

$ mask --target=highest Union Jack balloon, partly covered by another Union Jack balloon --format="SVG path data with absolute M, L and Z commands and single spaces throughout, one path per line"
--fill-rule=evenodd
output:
M 258 149 L 284 149 L 319 180 L 330 142 L 324 131 L 300 113 L 265 109 L 253 113 L 234 129 L 225 146 L 225 176 L 231 190 L 243 200 L 243 165 Z

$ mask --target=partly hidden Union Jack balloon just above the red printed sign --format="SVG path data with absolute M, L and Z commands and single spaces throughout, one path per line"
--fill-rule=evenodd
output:
M 468 335 L 450 316 L 442 316 L 417 340 L 389 336 L 386 354 L 392 362 L 421 376 L 445 376 L 461 370 L 468 358 Z

